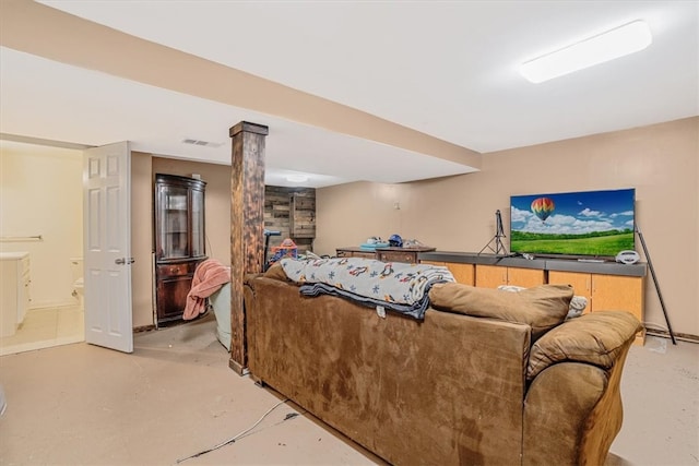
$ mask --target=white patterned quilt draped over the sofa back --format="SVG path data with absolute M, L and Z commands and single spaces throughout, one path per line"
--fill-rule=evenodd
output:
M 305 296 L 340 296 L 376 307 L 379 314 L 390 309 L 419 320 L 429 307 L 429 288 L 455 282 L 447 267 L 429 264 L 362 258 L 283 259 L 281 263 L 286 276 L 301 284 Z

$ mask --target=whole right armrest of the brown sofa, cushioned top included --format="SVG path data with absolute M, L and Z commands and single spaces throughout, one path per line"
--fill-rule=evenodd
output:
M 593 312 L 534 344 L 522 465 L 604 464 L 621 428 L 621 372 L 639 327 L 630 313 Z

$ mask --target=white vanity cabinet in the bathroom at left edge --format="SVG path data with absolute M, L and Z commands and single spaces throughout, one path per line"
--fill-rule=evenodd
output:
M 10 336 L 29 308 L 29 253 L 0 254 L 0 336 Z

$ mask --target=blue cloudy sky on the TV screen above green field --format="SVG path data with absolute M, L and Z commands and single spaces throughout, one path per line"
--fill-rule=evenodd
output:
M 553 201 L 532 202 L 546 198 Z M 583 235 L 633 229 L 633 189 L 510 198 L 510 228 L 517 231 Z

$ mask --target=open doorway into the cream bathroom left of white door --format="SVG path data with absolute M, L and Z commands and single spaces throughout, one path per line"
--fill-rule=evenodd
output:
M 83 249 L 82 151 L 2 140 L 0 184 L 0 251 L 27 252 L 31 279 L 24 319 L 0 337 L 0 355 L 83 342 L 82 290 L 74 286 Z

